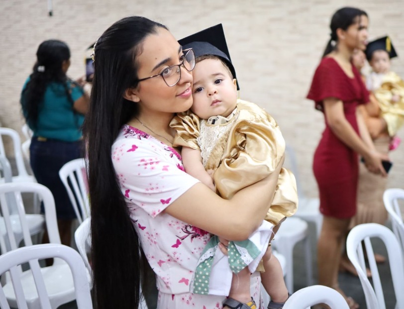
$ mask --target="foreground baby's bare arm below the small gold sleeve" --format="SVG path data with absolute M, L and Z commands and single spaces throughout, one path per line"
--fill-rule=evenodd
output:
M 183 159 L 185 171 L 200 180 L 202 184 L 208 186 L 209 189 L 214 192 L 213 179 L 203 167 L 201 151 L 190 147 L 183 147 L 181 150 L 181 157 Z

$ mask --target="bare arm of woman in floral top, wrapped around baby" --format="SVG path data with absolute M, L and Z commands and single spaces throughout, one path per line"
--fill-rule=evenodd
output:
M 189 224 L 228 240 L 245 240 L 264 219 L 274 198 L 284 158 L 267 178 L 224 200 L 202 184 L 168 206 L 165 211 Z

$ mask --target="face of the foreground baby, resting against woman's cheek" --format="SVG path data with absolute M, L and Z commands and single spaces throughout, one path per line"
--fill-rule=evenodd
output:
M 194 71 L 191 110 L 202 119 L 221 115 L 227 117 L 237 105 L 236 80 L 217 59 L 197 63 Z

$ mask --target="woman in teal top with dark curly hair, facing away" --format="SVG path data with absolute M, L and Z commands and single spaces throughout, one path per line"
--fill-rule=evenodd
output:
M 33 131 L 30 164 L 38 183 L 53 194 L 60 238 L 63 244 L 70 245 L 76 214 L 59 178 L 59 170 L 65 163 L 83 157 L 81 126 L 89 98 L 78 83 L 66 76 L 70 66 L 66 43 L 44 41 L 36 56 L 33 72 L 21 93 L 22 111 Z M 47 235 L 44 237 L 46 242 Z

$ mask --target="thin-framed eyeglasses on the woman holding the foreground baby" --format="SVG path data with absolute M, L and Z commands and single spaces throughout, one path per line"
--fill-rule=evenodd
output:
M 157 75 L 153 75 L 150 77 L 142 78 L 137 80 L 138 82 L 148 80 L 149 78 L 161 76 L 164 82 L 167 84 L 168 87 L 173 87 L 177 85 L 177 83 L 181 79 L 181 66 L 183 65 L 184 68 L 191 72 L 195 68 L 195 54 L 192 48 L 184 49 L 182 55 L 182 62 L 180 64 L 176 64 L 174 66 L 168 67 L 164 69 L 163 72 Z

